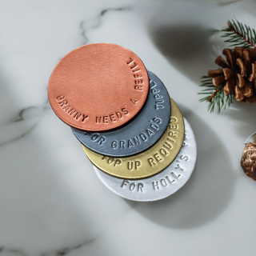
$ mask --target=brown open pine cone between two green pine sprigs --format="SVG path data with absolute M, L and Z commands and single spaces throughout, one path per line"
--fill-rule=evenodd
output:
M 234 93 L 238 102 L 253 103 L 256 101 L 256 49 L 235 47 L 224 49 L 215 63 L 219 70 L 209 70 L 208 76 L 213 78 L 214 86 L 223 86 L 224 93 Z

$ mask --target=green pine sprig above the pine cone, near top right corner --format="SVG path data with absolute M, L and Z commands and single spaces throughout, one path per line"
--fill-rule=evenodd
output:
M 230 47 L 255 48 L 256 32 L 254 29 L 243 25 L 235 18 L 230 19 L 227 24 L 229 27 L 222 30 L 225 33 L 222 35 L 222 38 L 227 38 L 225 42 L 230 42 Z

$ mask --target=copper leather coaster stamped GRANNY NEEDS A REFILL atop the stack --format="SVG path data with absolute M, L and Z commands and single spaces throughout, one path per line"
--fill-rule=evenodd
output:
M 106 131 L 134 118 L 146 102 L 149 77 L 132 51 L 94 43 L 66 54 L 50 75 L 48 97 L 58 118 L 86 131 Z

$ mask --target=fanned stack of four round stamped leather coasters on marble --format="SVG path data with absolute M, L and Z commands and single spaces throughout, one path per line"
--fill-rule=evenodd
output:
M 50 105 L 114 193 L 155 201 L 190 178 L 197 146 L 160 79 L 132 51 L 95 43 L 66 54 L 50 75 Z

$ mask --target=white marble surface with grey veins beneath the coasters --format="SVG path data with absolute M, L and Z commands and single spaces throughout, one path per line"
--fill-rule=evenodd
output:
M 255 255 L 256 183 L 240 167 L 255 104 L 209 114 L 199 78 L 234 16 L 255 28 L 254 1 L 0 2 L 0 255 Z M 133 50 L 194 129 L 190 181 L 159 202 L 108 190 L 47 101 L 60 58 L 90 42 Z

